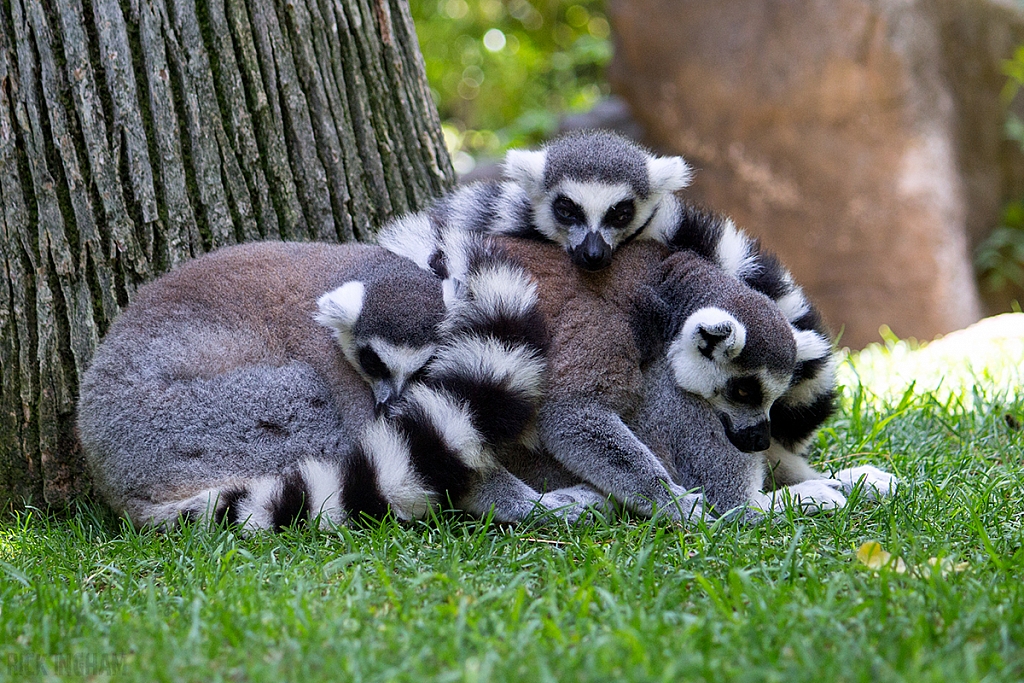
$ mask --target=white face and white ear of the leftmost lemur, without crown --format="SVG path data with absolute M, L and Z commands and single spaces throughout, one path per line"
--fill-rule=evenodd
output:
M 375 410 L 383 413 L 397 401 L 411 381 L 422 376 L 436 347 L 408 346 L 378 336 L 356 335 L 354 328 L 365 294 L 362 283 L 345 283 L 316 301 L 319 313 L 315 319 L 334 331 L 345 359 L 370 385 Z

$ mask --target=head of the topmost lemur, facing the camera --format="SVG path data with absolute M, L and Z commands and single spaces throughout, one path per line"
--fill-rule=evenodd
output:
M 537 228 L 587 270 L 611 263 L 615 249 L 650 224 L 662 199 L 690 182 L 681 157 L 656 157 L 607 131 L 509 151 L 505 175 L 529 195 Z

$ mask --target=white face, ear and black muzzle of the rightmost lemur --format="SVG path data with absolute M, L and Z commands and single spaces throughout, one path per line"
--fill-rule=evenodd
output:
M 729 440 L 748 453 L 771 444 L 768 413 L 790 387 L 788 371 L 743 367 L 736 362 L 746 330 L 715 307 L 692 313 L 669 346 L 676 384 L 706 398 L 718 414 Z

